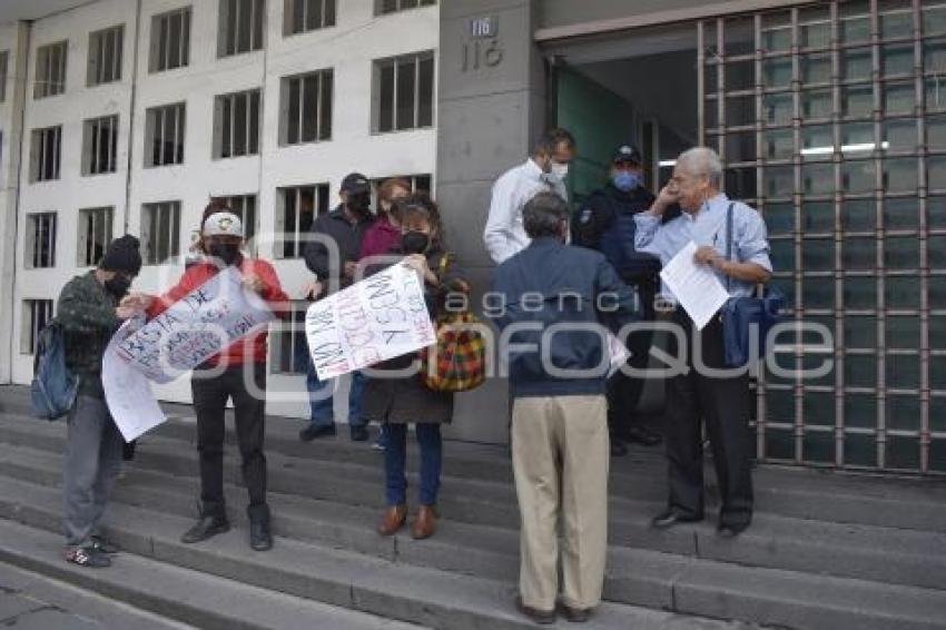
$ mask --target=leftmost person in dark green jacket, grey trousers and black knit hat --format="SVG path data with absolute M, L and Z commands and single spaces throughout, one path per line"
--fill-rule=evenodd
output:
M 112 240 L 98 268 L 69 280 L 59 295 L 66 365 L 79 377 L 63 471 L 66 560 L 80 567 L 109 567 L 108 554 L 117 551 L 97 532 L 125 444 L 105 401 L 101 364 L 112 334 L 135 314 L 118 304 L 140 270 L 138 239 L 125 235 Z

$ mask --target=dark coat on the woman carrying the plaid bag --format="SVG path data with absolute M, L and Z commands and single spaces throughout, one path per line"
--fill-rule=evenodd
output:
M 391 254 L 404 255 L 397 247 L 392 249 Z M 443 249 L 440 248 L 431 249 L 427 253 L 427 266 L 440 279 L 436 286 L 430 284 L 424 286 L 427 312 L 431 319 L 434 321 L 434 325 L 436 325 L 436 317 L 442 309 L 443 292 L 454 280 L 461 279 L 456 265 L 452 260 L 446 268 L 441 266 L 445 255 Z M 388 266 L 380 265 L 369 268 L 368 275 Z M 416 358 L 417 353 L 405 354 L 373 365 L 372 370 L 406 370 Z M 394 378 L 369 375 L 362 397 L 362 414 L 372 422 L 392 422 L 395 424 L 407 422 L 449 423 L 453 417 L 453 393 L 434 392 L 426 388 L 417 374 Z

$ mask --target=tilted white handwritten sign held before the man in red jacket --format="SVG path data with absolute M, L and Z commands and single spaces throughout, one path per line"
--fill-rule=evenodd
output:
M 156 383 L 194 370 L 275 319 L 258 295 L 227 267 L 122 341 L 117 356 Z

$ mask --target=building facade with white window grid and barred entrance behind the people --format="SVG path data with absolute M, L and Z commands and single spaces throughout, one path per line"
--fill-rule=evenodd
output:
M 575 200 L 603 181 L 618 142 L 641 148 L 653 188 L 682 149 L 706 144 L 726 163 L 729 195 L 765 216 L 791 317 L 831 338 L 781 344 L 780 365 L 828 361 L 825 374 L 755 380 L 761 461 L 946 472 L 944 0 L 134 4 L 100 0 L 0 31 L 0 209 L 4 233 L 17 235 L 16 246 L 0 245 L 10 280 L 0 377 L 29 378 L 29 331 L 46 308 L 30 301 L 53 298 L 81 267 L 91 208 L 114 207 L 112 234 L 127 226 L 145 237 L 155 264 L 139 283 L 154 289 L 179 273 L 160 263 L 186 250 L 209 196 L 253 208 L 260 234 L 285 235 L 302 225 L 300 208 L 334 203 L 347 170 L 421 176 L 479 298 L 492 267 L 480 238 L 492 181 L 525 159 L 543 128 L 561 125 L 579 140 Z M 176 17 L 188 7 L 186 20 Z M 304 32 L 290 35 L 299 23 Z M 118 24 L 120 80 L 89 87 L 89 73 L 116 71 L 92 59 L 115 49 L 114 36 L 96 33 Z M 62 40 L 65 93 L 37 97 L 56 89 L 52 45 Z M 38 65 L 51 87 L 37 86 Z M 415 98 L 402 107 L 405 87 Z M 304 105 L 326 90 L 327 122 Z M 239 131 L 257 110 L 256 131 L 252 122 Z M 309 118 L 295 122 L 302 111 Z M 90 159 L 87 132 L 117 134 L 117 148 Z M 59 150 L 58 177 L 47 178 L 39 158 Z M 114 173 L 89 174 L 112 158 Z M 50 226 L 43 215 L 53 211 Z M 37 235 L 50 230 L 48 267 Z M 258 250 L 297 292 L 307 274 L 283 238 Z M 277 371 L 286 338 L 272 344 Z M 659 383 L 651 394 L 659 404 Z M 505 441 L 505 396 L 500 378 L 460 396 L 453 435 Z

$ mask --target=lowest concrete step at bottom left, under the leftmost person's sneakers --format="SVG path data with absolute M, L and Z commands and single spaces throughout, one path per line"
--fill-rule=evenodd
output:
M 107 571 L 82 569 L 62 560 L 61 545 L 62 539 L 56 534 L 0 520 L 2 561 L 195 628 L 422 630 L 421 626 L 250 587 L 134 553 L 116 557 Z

